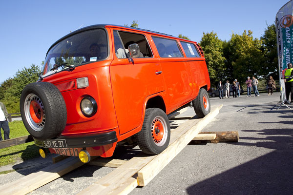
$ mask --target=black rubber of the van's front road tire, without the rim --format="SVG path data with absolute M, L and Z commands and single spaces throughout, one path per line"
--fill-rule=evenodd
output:
M 161 116 L 165 118 L 167 122 L 167 140 L 163 146 L 157 146 L 151 137 L 151 124 L 155 117 Z M 166 113 L 159 108 L 148 108 L 146 109 L 145 119 L 142 130 L 136 134 L 137 144 L 139 148 L 146 154 L 157 155 L 163 152 L 169 145 L 170 141 L 170 123 Z

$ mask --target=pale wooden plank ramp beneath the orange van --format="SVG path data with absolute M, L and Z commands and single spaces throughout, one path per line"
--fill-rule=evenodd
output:
M 79 195 L 124 195 L 135 187 L 145 186 L 154 178 L 210 121 L 219 113 L 222 105 L 211 107 L 204 118 L 188 119 L 171 131 L 168 148 L 156 156 L 140 153 L 128 161 L 99 160 L 89 162 L 92 165 L 117 167 L 114 171 L 88 186 Z M 60 159 L 59 159 L 60 158 Z M 63 159 L 58 157 L 54 162 Z M 57 179 L 60 176 L 84 165 L 78 157 L 67 157 L 39 172 L 24 176 L 0 187 L 1 195 L 25 195 Z

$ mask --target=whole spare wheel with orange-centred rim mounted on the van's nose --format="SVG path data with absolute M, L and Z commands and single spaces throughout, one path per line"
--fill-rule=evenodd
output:
M 29 83 L 21 92 L 21 118 L 27 131 L 41 140 L 59 136 L 67 111 L 62 94 L 49 82 Z

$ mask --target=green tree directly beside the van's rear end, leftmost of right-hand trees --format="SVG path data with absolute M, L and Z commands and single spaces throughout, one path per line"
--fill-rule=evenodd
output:
M 213 31 L 203 33 L 200 45 L 205 53 L 209 70 L 209 79 L 212 86 L 217 86 L 220 80 L 225 79 L 225 57 L 223 53 L 224 41 L 218 38 Z

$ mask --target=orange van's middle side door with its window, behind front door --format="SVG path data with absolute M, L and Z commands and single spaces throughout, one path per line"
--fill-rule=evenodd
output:
M 168 113 L 192 100 L 190 67 L 175 39 L 161 37 L 152 37 L 152 39 L 161 57 L 160 62 L 167 86 Z

